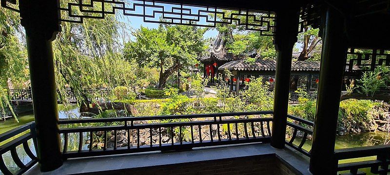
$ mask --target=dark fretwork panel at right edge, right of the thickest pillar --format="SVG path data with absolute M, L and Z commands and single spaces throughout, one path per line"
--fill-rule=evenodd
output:
M 390 50 L 348 49 L 347 69 L 350 72 L 373 71 L 378 66 L 390 66 Z

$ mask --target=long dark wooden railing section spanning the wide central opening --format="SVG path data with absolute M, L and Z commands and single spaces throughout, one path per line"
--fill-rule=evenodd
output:
M 64 158 L 90 157 L 146 151 L 185 150 L 194 147 L 236 143 L 269 142 L 271 140 L 270 123 L 272 117 L 260 118 L 260 116 L 272 115 L 272 113 L 272 111 L 260 111 L 60 120 L 61 129 L 59 132 L 64 138 L 62 154 Z M 100 123 L 104 126 L 84 127 L 83 123 Z M 117 125 L 113 126 L 112 123 Z M 68 149 L 70 134 L 78 135 L 78 146 L 73 150 Z M 110 139 L 109 135 L 111 135 Z M 118 138 L 124 140 L 123 136 L 126 137 L 128 144 L 119 147 Z M 100 148 L 94 146 L 94 142 L 96 143 L 99 137 L 102 137 L 102 142 L 97 144 L 101 145 Z M 87 148 L 83 146 L 84 138 L 89 142 Z M 109 144 L 109 140 L 113 143 Z M 108 145 L 112 145 L 111 148 Z

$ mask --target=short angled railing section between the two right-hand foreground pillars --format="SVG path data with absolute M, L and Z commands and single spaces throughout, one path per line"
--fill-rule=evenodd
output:
M 306 140 L 308 139 L 309 135 L 313 134 L 312 128 L 314 126 L 314 123 L 292 115 L 287 115 L 287 118 L 293 121 L 293 122 L 287 121 L 287 128 L 290 127 L 293 133 L 291 139 L 286 140 L 286 144 L 292 147 L 293 149 L 301 152 L 302 154 L 310 157 L 310 151 L 307 151 L 302 147 L 305 144 Z M 296 140 L 298 133 L 300 135 L 303 134 L 303 136 L 300 137 L 301 140 L 298 141 L 299 144 L 297 145 L 294 143 L 294 141 Z

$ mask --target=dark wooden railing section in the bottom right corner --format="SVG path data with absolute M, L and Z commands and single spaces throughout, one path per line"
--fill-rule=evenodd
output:
M 337 171 L 350 171 L 348 175 L 366 175 L 359 171 L 361 168 L 370 168 L 370 172 L 379 175 L 388 175 L 390 173 L 390 145 L 376 145 L 357 148 L 336 149 L 334 157 L 336 161 L 376 156 L 374 160 L 357 161 L 350 163 L 339 163 Z

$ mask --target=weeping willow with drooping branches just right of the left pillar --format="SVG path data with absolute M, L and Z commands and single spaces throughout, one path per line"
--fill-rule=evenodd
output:
M 94 8 L 101 10 L 98 6 Z M 81 15 L 77 10 L 72 13 Z M 65 15 L 61 18 L 68 19 Z M 53 52 L 59 98 L 64 104 L 69 104 L 65 98 L 68 87 L 76 95 L 78 105 L 89 108 L 89 100 L 99 103 L 95 100 L 97 94 L 85 88 L 128 86 L 134 80 L 134 66 L 123 58 L 120 50 L 122 32 L 127 26 L 117 18 L 121 17 L 106 15 L 104 19 L 84 19 L 82 24 L 62 23 L 62 31 L 53 42 Z

